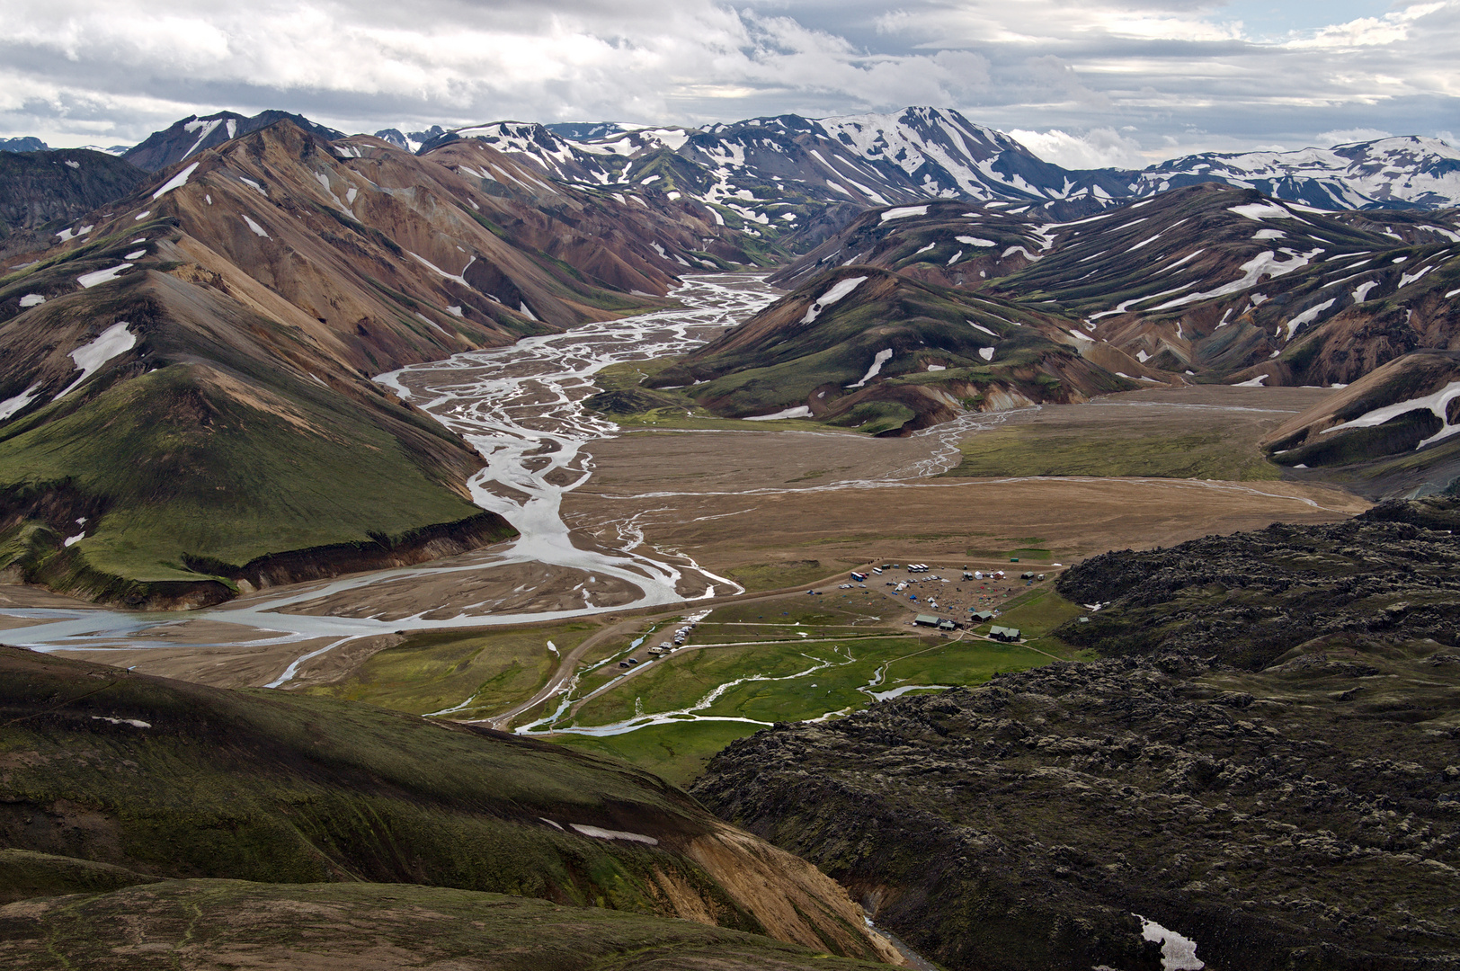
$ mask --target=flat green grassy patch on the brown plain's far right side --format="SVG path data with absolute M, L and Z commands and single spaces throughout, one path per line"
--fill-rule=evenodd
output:
M 1152 476 L 1167 479 L 1278 479 L 1282 472 L 1256 444 L 1221 431 L 1130 435 L 1047 431 L 1038 425 L 984 432 L 965 441 L 949 476 Z

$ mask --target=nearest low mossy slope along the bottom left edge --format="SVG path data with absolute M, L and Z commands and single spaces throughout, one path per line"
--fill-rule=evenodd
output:
M 853 971 L 885 967 L 759 934 L 400 883 L 169 880 L 0 908 L 13 971 Z M 58 964 L 61 956 L 67 962 Z

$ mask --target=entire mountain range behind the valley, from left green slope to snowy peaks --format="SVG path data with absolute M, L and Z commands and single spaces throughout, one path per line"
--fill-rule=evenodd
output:
M 686 272 L 778 266 L 790 292 L 629 397 L 864 434 L 1152 383 L 1350 384 L 1460 340 L 1460 220 L 1421 207 L 1454 178 L 1438 142 L 1304 156 L 1304 178 L 1359 174 L 1362 199 L 1327 199 L 1369 209 L 1337 210 L 1231 184 L 1270 155 L 1221 178 L 1210 159 L 1072 174 L 929 108 L 558 128 L 343 136 L 220 112 L 121 158 L 0 155 L 9 568 L 199 605 L 501 539 L 469 501 L 480 457 L 369 378 L 663 307 Z M 1267 187 L 1308 191 L 1294 178 Z M 1435 393 L 1441 365 L 1313 421 Z M 1437 483 L 1460 461 L 1437 415 L 1381 437 L 1402 469 L 1342 475 Z M 1299 477 L 1356 454 L 1295 441 L 1272 448 Z M 134 456 L 159 461 L 139 476 Z M 355 494 L 318 485 L 365 466 L 378 482 Z

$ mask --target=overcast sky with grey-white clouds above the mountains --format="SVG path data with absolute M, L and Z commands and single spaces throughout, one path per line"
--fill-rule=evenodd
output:
M 1460 0 L 0 0 L 0 137 L 958 108 L 1066 166 L 1460 133 Z

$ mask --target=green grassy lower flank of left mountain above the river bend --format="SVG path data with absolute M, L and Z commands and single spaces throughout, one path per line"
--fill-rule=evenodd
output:
M 197 580 L 185 553 L 241 565 L 479 513 L 343 400 L 291 421 L 174 365 L 54 407 L 7 429 L 0 482 L 98 496 L 110 508 L 73 549 L 108 574 Z

